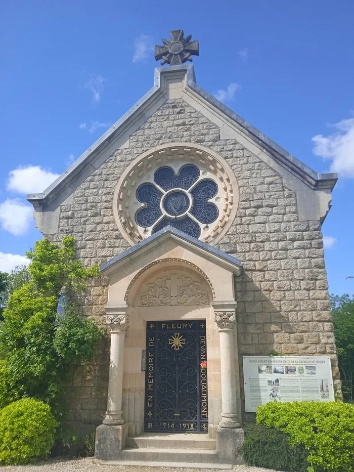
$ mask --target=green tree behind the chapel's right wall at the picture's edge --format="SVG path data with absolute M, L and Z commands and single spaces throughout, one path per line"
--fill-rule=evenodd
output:
M 334 333 L 342 391 L 346 401 L 354 401 L 354 296 L 331 295 Z

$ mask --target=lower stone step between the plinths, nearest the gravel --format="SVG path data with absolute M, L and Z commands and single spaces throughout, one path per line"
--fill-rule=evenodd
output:
M 220 463 L 216 450 L 213 449 L 168 449 L 168 448 L 129 448 L 119 453 L 123 461 L 155 461 L 155 462 L 185 462 Z M 181 465 L 180 465 L 181 467 Z

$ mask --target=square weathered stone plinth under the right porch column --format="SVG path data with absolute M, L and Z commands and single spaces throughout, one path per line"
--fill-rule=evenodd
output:
M 216 451 L 219 459 L 231 464 L 243 464 L 242 445 L 245 433 L 242 428 L 220 427 L 216 430 Z

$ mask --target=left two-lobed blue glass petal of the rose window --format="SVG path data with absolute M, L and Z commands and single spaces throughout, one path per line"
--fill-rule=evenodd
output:
M 135 215 L 135 221 L 139 226 L 148 228 L 161 216 L 160 200 L 162 193 L 152 184 L 143 184 L 137 190 L 137 198 L 140 202 L 146 203 L 145 208 L 141 208 Z

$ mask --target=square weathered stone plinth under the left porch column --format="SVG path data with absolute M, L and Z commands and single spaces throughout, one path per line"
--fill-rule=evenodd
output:
M 128 425 L 110 426 L 100 424 L 96 428 L 95 457 L 100 460 L 119 459 L 128 436 Z

